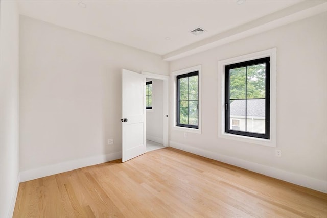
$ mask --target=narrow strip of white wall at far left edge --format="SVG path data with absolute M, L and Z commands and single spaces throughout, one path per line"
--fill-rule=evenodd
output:
M 0 1 L 0 217 L 11 217 L 18 188 L 18 36 L 16 1 Z

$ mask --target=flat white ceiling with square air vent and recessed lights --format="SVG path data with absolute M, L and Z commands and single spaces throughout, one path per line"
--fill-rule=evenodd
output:
M 309 1 L 326 3 L 326 0 Z M 79 2 L 86 7 L 78 6 Z M 185 52 L 188 46 L 229 30 L 241 30 L 262 17 L 281 18 L 276 13 L 283 15 L 285 8 L 294 9 L 287 15 L 298 12 L 296 7 L 300 4 L 304 5 L 303 0 L 246 0 L 241 5 L 237 0 L 20 0 L 19 11 L 25 16 L 165 57 Z M 301 10 L 312 7 L 307 5 Z M 207 32 L 192 35 L 190 31 L 197 27 Z

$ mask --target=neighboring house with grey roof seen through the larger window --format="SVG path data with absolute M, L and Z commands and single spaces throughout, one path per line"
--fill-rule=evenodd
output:
M 245 100 L 230 103 L 230 129 L 265 133 L 265 99 L 248 99 L 245 120 Z M 245 129 L 246 126 L 246 129 Z

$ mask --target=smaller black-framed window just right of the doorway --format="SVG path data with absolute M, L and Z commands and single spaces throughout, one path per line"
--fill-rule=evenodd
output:
M 199 119 L 199 71 L 178 75 L 177 124 L 179 127 L 198 129 Z

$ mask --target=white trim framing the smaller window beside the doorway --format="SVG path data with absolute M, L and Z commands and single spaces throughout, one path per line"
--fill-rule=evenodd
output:
M 177 79 L 176 77 L 178 75 L 182 74 L 188 74 L 189 72 L 194 72 L 198 71 L 198 82 L 199 82 L 199 93 L 198 93 L 198 104 L 199 104 L 199 117 L 198 117 L 198 129 L 193 129 L 193 128 L 187 128 L 187 127 L 178 127 L 176 126 L 176 84 L 177 84 Z M 171 100 L 173 101 L 172 107 L 171 107 L 171 129 L 172 130 L 178 130 L 178 131 L 183 131 L 183 132 L 192 132 L 192 133 L 202 133 L 202 65 L 198 66 L 193 66 L 189 67 L 186 69 L 180 69 L 177 71 L 172 72 L 172 77 L 171 77 Z

